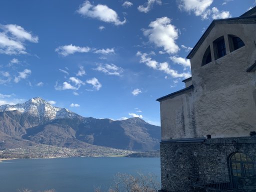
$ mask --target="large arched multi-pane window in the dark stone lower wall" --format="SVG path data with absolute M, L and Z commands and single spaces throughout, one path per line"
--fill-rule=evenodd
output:
M 236 186 L 238 178 L 252 176 L 255 174 L 253 160 L 242 152 L 232 154 L 229 158 L 229 164 L 232 183 L 234 186 Z

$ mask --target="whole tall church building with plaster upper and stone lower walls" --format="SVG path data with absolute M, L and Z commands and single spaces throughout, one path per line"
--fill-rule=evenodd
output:
M 213 20 L 187 58 L 185 88 L 157 99 L 160 191 L 256 191 L 256 7 Z

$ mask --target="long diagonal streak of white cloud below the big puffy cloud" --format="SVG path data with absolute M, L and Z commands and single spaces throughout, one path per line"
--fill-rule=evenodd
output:
M 191 76 L 191 74 L 188 72 L 178 73 L 176 70 L 170 68 L 167 62 L 157 62 L 156 60 L 152 60 L 152 58 L 150 58 L 147 53 L 141 53 L 138 51 L 136 55 L 140 56 L 139 62 L 145 63 L 147 66 L 153 69 L 161 70 L 174 78 L 176 77 L 188 78 Z

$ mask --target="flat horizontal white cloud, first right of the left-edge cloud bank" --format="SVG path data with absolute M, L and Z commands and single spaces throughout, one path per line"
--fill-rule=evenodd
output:
M 55 51 L 58 54 L 67 56 L 67 55 L 73 54 L 75 52 L 89 52 L 90 48 L 87 46 L 81 47 L 81 46 L 75 46 L 75 45 L 69 44 L 69 45 L 59 46 L 55 49 Z

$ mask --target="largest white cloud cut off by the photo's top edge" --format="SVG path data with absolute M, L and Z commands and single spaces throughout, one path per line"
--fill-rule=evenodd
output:
M 208 7 L 213 0 L 179 0 L 178 7 L 181 10 L 187 12 L 194 12 L 196 16 L 201 16 L 202 19 L 206 19 L 210 14 Z

